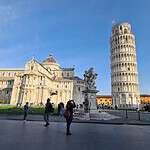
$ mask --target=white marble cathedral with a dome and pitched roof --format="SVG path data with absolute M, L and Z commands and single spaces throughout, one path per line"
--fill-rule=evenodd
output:
M 44 105 L 47 98 L 56 107 L 74 99 L 83 104 L 84 80 L 75 76 L 74 68 L 62 68 L 52 55 L 42 63 L 28 61 L 22 69 L 0 69 L 0 103 Z

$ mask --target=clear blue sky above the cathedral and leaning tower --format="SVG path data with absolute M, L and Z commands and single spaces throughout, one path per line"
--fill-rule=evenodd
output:
M 140 91 L 150 94 L 149 0 L 0 0 L 0 68 L 22 68 L 53 54 L 62 67 L 98 72 L 110 94 L 109 38 L 113 20 L 128 21 L 136 37 Z

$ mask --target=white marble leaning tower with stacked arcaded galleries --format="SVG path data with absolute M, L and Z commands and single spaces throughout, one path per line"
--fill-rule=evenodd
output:
M 129 23 L 113 25 L 110 50 L 113 105 L 137 108 L 140 94 L 135 37 Z

